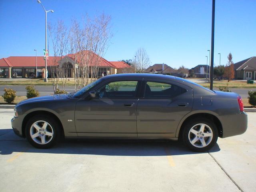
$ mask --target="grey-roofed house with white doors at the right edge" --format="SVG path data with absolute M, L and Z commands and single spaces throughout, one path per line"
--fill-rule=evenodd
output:
M 256 57 L 234 64 L 235 79 L 256 80 Z

